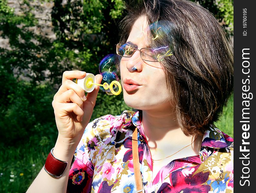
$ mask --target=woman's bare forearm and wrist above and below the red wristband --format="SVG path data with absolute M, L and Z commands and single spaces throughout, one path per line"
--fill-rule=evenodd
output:
M 72 161 L 76 146 L 77 144 L 75 143 L 66 143 L 62 139 L 58 138 L 53 149 L 53 154 L 59 160 L 68 162 L 66 170 L 64 171 L 63 175 L 60 178 L 55 178 L 55 177 L 52 177 L 50 174 L 48 174 L 43 168 L 39 172 L 37 177 L 34 179 L 33 183 L 27 190 L 27 193 L 66 192 L 69 169 L 71 166 L 71 161 Z

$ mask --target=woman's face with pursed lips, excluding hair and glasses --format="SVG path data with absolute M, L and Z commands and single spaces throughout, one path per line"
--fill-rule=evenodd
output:
M 148 48 L 146 29 L 146 17 L 141 16 L 134 23 L 127 42 L 123 43 L 139 50 Z M 128 106 L 141 110 L 170 109 L 164 70 L 159 62 L 153 63 L 156 67 L 152 62 L 142 60 L 138 50 L 130 58 L 121 58 L 121 81 L 124 101 Z

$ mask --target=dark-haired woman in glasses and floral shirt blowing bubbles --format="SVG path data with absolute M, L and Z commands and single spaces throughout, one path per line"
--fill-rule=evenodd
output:
M 99 87 L 85 96 L 72 79 L 86 73 L 64 72 L 52 102 L 58 139 L 28 192 L 136 192 L 132 141 L 145 192 L 233 191 L 233 139 L 213 124 L 233 87 L 223 29 L 189 1 L 133 3 L 117 54 L 124 100 L 139 111 L 89 123 Z

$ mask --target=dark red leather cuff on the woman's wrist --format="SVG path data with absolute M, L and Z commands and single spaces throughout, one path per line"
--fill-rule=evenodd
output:
M 53 148 L 52 148 L 52 150 L 53 150 Z M 53 176 L 55 178 L 60 178 L 62 176 L 62 174 L 64 173 L 64 171 L 66 170 L 68 162 L 61 161 L 61 160 L 57 159 L 53 155 L 52 150 L 48 154 L 43 167 L 44 167 L 44 170 L 51 176 Z

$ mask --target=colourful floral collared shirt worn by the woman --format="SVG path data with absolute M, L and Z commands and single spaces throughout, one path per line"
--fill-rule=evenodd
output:
M 105 115 L 88 124 L 75 152 L 67 192 L 136 192 L 132 159 L 136 128 L 146 193 L 233 192 L 233 139 L 215 125 L 206 130 L 199 155 L 171 161 L 152 179 L 153 164 L 139 111 Z

